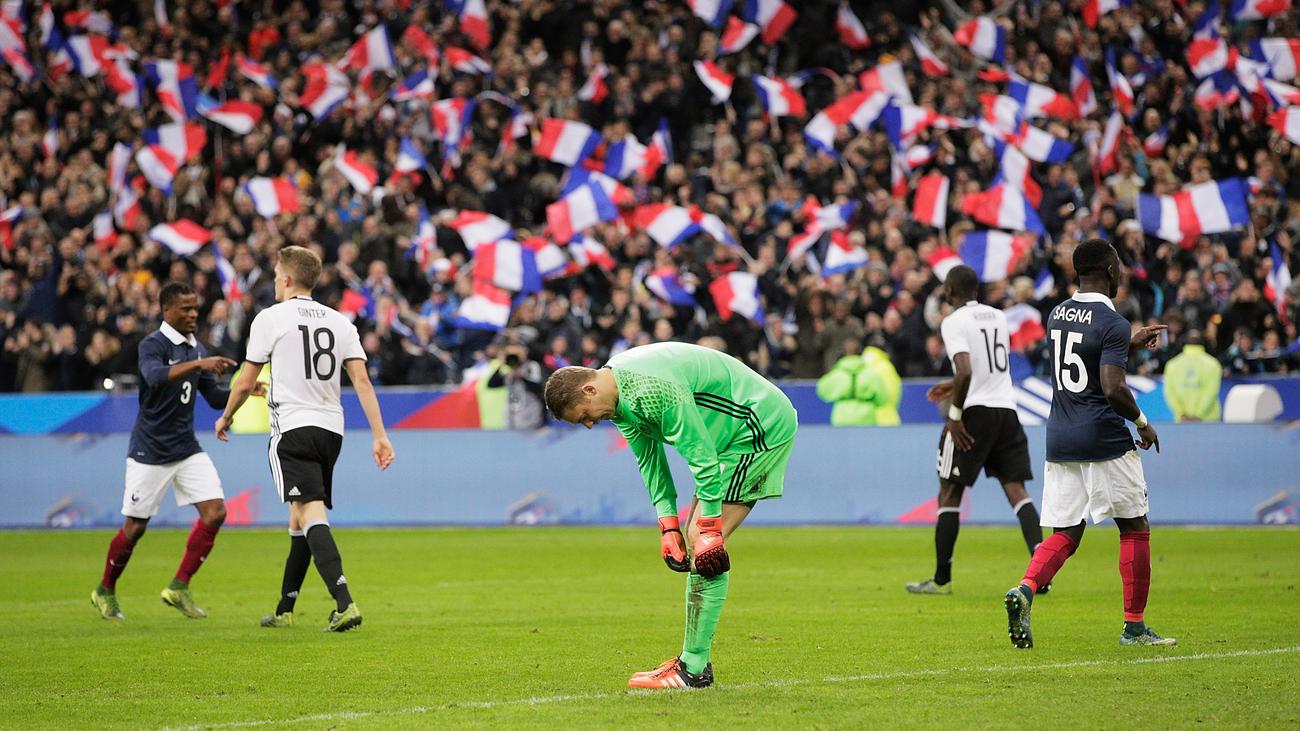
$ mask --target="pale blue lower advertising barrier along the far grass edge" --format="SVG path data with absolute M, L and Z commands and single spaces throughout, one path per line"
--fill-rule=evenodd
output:
M 1041 503 L 1043 427 L 1027 428 Z M 610 427 L 538 433 L 464 429 L 393 432 L 396 462 L 378 472 L 367 432 L 350 432 L 334 472 L 339 524 L 644 524 L 654 515 L 627 442 Z M 754 523 L 931 523 L 939 429 L 924 425 L 806 425 L 785 497 L 758 506 Z M 0 438 L 0 525 L 116 525 L 126 434 Z M 283 524 L 266 466 L 266 437 L 200 441 L 225 485 L 229 524 Z M 1286 523 L 1300 503 L 1300 429 L 1279 424 L 1171 424 L 1162 454 L 1145 453 L 1157 523 Z M 692 481 L 670 450 L 688 499 Z M 982 479 L 965 519 L 1014 523 L 997 484 Z M 157 523 L 187 524 L 190 507 L 164 498 Z

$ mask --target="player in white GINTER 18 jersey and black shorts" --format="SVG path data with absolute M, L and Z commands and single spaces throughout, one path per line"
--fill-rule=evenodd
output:
M 370 424 L 374 463 L 386 470 L 393 463 L 393 445 L 384 429 L 380 402 L 365 372 L 365 351 L 356 326 L 346 317 L 312 299 L 321 274 L 321 260 L 300 246 L 280 250 L 276 263 L 277 304 L 257 313 L 248 336 L 248 354 L 230 389 L 230 402 L 217 419 L 217 438 L 226 432 L 235 412 L 252 393 L 263 366 L 272 364 L 266 403 L 270 406 L 270 473 L 280 498 L 289 503 L 289 558 L 281 584 L 280 605 L 263 618 L 263 627 L 291 627 L 294 604 L 315 559 L 316 570 L 337 609 L 330 613 L 328 632 L 346 632 L 361 624 L 361 611 L 352 601 L 343 559 L 325 512 L 334 507 L 333 472 L 343 445 L 343 405 L 339 401 L 342 371 Z

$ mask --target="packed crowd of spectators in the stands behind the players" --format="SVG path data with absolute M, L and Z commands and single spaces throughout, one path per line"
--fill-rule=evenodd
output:
M 1135 324 L 1170 326 L 1169 345 L 1134 366 L 1140 372 L 1160 372 L 1188 336 L 1204 338 L 1228 373 L 1300 368 L 1300 278 L 1284 286 L 1271 256 L 1290 271 L 1300 265 L 1300 144 L 1265 122 L 1286 100 L 1249 94 L 1248 85 L 1197 94 L 1187 49 L 1206 7 L 1200 0 L 1138 3 L 1101 16 L 1095 27 L 1080 20 L 1079 1 L 848 3 L 866 29 L 866 48 L 854 48 L 867 43 L 852 27 L 837 30 L 845 12 L 838 3 L 809 0 L 786 8 L 797 10 L 788 29 L 762 12 L 746 18 L 758 36 L 734 52 L 725 52 L 737 42 L 724 22 L 715 27 L 692 12 L 708 3 L 488 0 L 486 29 L 473 0 L 157 5 L 3 4 L 22 49 L 6 51 L 9 62 L 0 66 L 0 390 L 100 388 L 134 373 L 136 345 L 159 321 L 156 294 L 173 278 L 202 293 L 200 339 L 240 359 L 254 315 L 274 300 L 270 272 L 286 245 L 312 247 L 326 261 L 317 298 L 355 315 L 377 384 L 460 382 L 511 345 L 551 369 L 599 364 L 645 342 L 707 336 L 774 379 L 819 377 L 867 345 L 887 351 L 905 377 L 942 375 L 935 264 L 945 247 L 961 254 L 966 234 L 984 230 L 963 199 L 989 189 L 1006 147 L 974 124 L 988 118 L 982 96 L 1008 94 L 1001 70 L 1069 96 L 1076 56 L 1097 109 L 1030 118 L 1072 151 L 1062 163 L 1031 165 L 1045 230 L 1015 248 L 1005 271 L 985 272 L 984 299 L 1045 313 L 1069 297 L 1074 247 L 1102 237 L 1130 269 L 1118 311 Z M 745 5 L 736 3 L 732 17 L 746 13 Z M 982 13 L 1004 34 L 1002 62 L 954 38 Z M 1244 64 L 1254 39 L 1300 36 L 1297 18 L 1290 12 L 1217 27 Z M 391 43 L 393 68 L 376 60 L 382 44 L 367 43 L 376 27 Z M 946 70 L 924 66 L 910 34 Z M 87 43 L 105 38 L 107 48 Z M 1134 92 L 1114 151 L 1102 148 L 1117 104 L 1108 53 Z M 474 68 L 476 57 L 490 74 Z M 31 62 L 26 72 L 22 59 Z M 179 61 L 182 88 L 188 65 L 187 83 L 217 103 L 244 101 L 257 118 L 240 134 L 187 103 L 177 116 L 165 99 L 174 88 L 166 74 L 160 82 L 133 77 L 152 60 Z M 696 61 L 734 74 L 725 104 Z M 810 120 L 868 83 L 863 72 L 889 61 L 901 64 L 914 109 L 954 120 L 909 135 L 905 150 L 879 122 L 864 130 L 840 125 L 836 155 L 810 143 Z M 337 62 L 342 74 L 321 70 Z M 432 90 L 408 88 L 406 79 L 426 66 Z M 806 113 L 768 114 L 750 74 L 790 79 Z M 313 87 L 338 75 L 346 98 L 322 112 Z M 448 131 L 459 118 L 430 113 L 434 100 L 469 99 L 477 104 L 459 137 Z M 166 170 L 168 191 L 146 169 L 156 157 L 142 151 L 157 144 L 150 130 L 179 118 L 205 139 L 199 148 L 182 143 L 182 160 Z M 490 213 L 520 242 L 554 239 L 547 206 L 573 173 L 538 152 L 549 118 L 582 121 L 603 135 L 577 170 L 610 172 L 614 143 L 634 135 L 649 146 L 660 120 L 671 161 L 649 177 L 616 173 L 623 187 L 610 198 L 619 215 L 603 216 L 559 250 L 567 264 L 540 291 L 506 291 L 512 306 L 504 328 L 485 325 L 463 307 L 482 297 L 474 271 L 485 265 L 473 260 L 458 216 Z M 403 163 L 404 139 L 424 165 Z M 125 185 L 114 181 L 118 143 L 134 152 Z M 914 160 L 913 151 L 923 155 Z M 352 176 L 342 174 L 343 165 Z M 377 173 L 373 187 L 355 181 L 356 169 L 363 178 Z M 935 170 L 950 181 L 941 228 L 916 220 L 911 193 Z M 244 185 L 252 178 L 289 181 L 296 204 L 280 204 L 291 212 L 259 215 L 264 203 Z M 1249 225 L 1166 241 L 1139 221 L 1139 194 L 1228 178 L 1245 183 Z M 659 203 L 685 208 L 697 222 L 715 215 L 728 235 L 699 230 L 673 246 L 656 243 L 641 213 Z M 810 209 L 842 204 L 855 206 L 841 230 L 788 255 L 790 239 L 809 230 Z M 432 233 L 421 228 L 421 209 Z M 182 220 L 204 232 L 198 242 L 185 235 L 188 229 L 179 245 L 157 233 L 160 224 Z M 864 250 L 866 263 L 827 273 L 832 247 Z M 732 272 L 757 277 L 760 311 L 716 302 L 728 290 L 710 285 Z M 673 286 L 694 291 L 697 306 L 672 304 L 645 285 L 647 274 L 666 273 Z M 1045 372 L 1041 333 L 1028 319 L 1017 343 L 1030 367 Z

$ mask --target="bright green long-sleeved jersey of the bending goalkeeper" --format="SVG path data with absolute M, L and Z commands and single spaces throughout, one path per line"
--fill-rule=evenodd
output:
M 794 438 L 798 415 L 771 381 L 731 355 L 677 342 L 633 347 L 610 359 L 619 385 L 614 424 L 641 467 L 660 518 L 677 514 L 677 489 L 663 445 L 696 479 L 706 518 L 722 515 L 722 454 L 767 451 Z

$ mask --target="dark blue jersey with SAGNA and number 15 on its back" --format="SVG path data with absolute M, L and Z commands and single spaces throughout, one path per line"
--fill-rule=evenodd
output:
M 1049 462 L 1101 462 L 1134 449 L 1128 425 L 1101 390 L 1101 366 L 1128 364 L 1128 320 L 1110 298 L 1076 293 L 1052 310 Z

